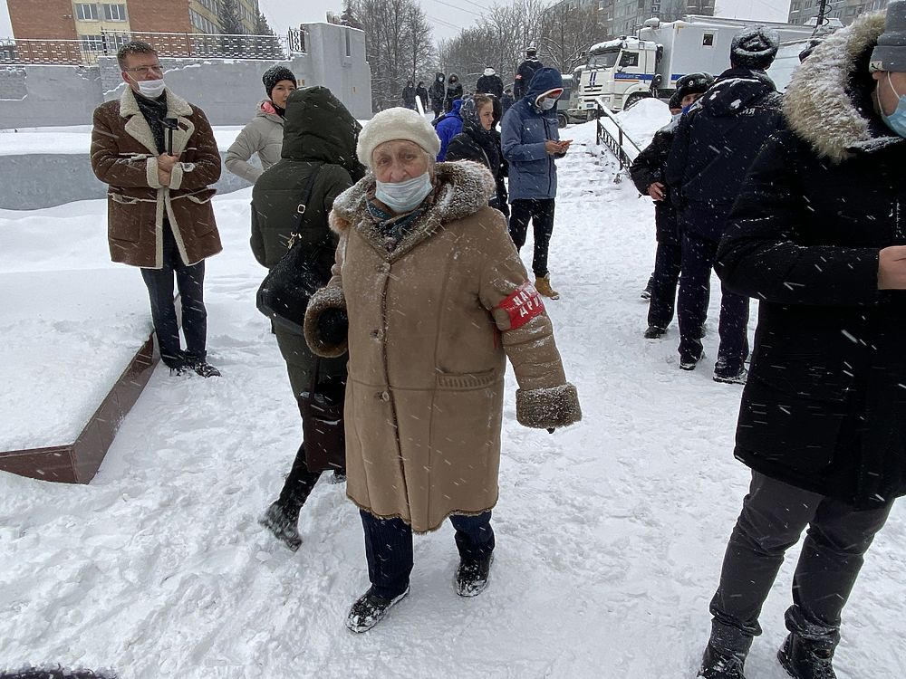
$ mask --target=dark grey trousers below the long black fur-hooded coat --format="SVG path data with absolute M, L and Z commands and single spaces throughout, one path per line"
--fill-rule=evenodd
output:
M 761 634 L 758 616 L 784 554 L 808 526 L 793 575 L 793 606 L 786 611 L 786 627 L 833 649 L 863 555 L 891 507 L 892 502 L 856 510 L 753 472 L 727 545 L 718 591 L 711 599 L 711 645 L 727 655 L 747 654 L 752 637 Z

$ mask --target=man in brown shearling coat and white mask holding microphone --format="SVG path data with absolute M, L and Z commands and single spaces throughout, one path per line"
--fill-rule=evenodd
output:
M 220 154 L 202 110 L 163 81 L 158 54 L 147 43 L 117 53 L 129 87 L 94 111 L 92 169 L 110 185 L 108 242 L 113 262 L 141 268 L 160 357 L 171 373 L 220 373 L 207 363 L 205 258 L 223 248 L 209 185 L 220 178 Z M 186 349 L 181 349 L 173 279 L 182 300 Z

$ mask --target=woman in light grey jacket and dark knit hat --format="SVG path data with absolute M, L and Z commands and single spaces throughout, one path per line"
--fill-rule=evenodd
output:
M 286 100 L 296 89 L 295 75 L 285 66 L 272 66 L 261 81 L 265 83 L 267 99 L 258 104 L 255 118 L 239 132 L 226 151 L 226 169 L 252 184 L 265 169 L 280 160 Z M 248 162 L 255 154 L 258 154 L 261 167 Z

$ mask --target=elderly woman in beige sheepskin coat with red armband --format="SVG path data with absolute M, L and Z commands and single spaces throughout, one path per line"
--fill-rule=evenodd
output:
M 438 148 L 415 111 L 381 111 L 362 129 L 358 156 L 371 173 L 333 203 L 333 278 L 305 317 L 314 353 L 349 350 L 347 494 L 361 509 L 371 579 L 347 619 L 355 632 L 409 592 L 412 531 L 448 518 L 457 593 L 485 588 L 506 357 L 521 424 L 553 431 L 582 416 L 544 303 L 487 206 L 493 177 L 467 161 L 435 166 Z

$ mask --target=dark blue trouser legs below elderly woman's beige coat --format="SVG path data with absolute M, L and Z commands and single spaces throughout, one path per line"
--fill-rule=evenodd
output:
M 399 597 L 409 587 L 412 573 L 412 528 L 401 519 L 378 519 L 360 510 L 365 530 L 368 579 L 375 594 Z M 494 550 L 491 512 L 477 516 L 451 516 L 461 559 L 480 559 Z

